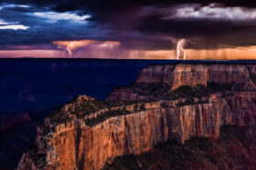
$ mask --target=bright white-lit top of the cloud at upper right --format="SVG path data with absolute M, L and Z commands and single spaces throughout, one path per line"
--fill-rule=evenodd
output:
M 164 19 L 218 19 L 230 21 L 256 20 L 256 8 L 225 7 L 218 4 L 201 6 L 197 4 L 179 5 L 175 14 Z

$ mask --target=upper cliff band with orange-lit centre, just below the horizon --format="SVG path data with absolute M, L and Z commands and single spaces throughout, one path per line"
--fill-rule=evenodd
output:
M 207 85 L 251 82 L 246 65 L 148 65 L 137 76 L 136 83 L 165 83 L 177 88 L 181 85 Z

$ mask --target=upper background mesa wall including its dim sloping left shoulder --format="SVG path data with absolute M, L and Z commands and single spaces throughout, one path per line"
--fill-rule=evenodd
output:
M 256 85 L 251 80 L 248 67 L 251 74 L 255 74 L 254 65 L 149 65 L 139 73 L 133 85 L 115 89 L 106 100 L 161 100 L 163 96 L 169 95 L 170 91 L 185 85 L 236 85 L 233 88 L 253 90 Z M 160 92 L 160 97 L 155 96 L 159 95 L 157 87 L 165 89 Z M 156 90 L 156 93 L 148 95 L 148 90 Z

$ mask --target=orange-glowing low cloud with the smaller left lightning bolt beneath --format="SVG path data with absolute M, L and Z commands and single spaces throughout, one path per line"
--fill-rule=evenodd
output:
M 99 47 L 114 47 L 120 45 L 118 41 L 98 41 L 98 40 L 79 40 L 79 41 L 54 41 L 53 45 L 58 45 L 59 49 L 63 49 L 72 57 L 73 51 L 89 45 L 97 45 Z

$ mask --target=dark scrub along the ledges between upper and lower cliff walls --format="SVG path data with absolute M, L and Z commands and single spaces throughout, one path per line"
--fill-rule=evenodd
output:
M 180 102 L 177 106 L 184 105 L 196 105 L 196 104 L 207 104 L 207 97 L 211 94 L 215 94 L 223 91 L 231 90 L 243 90 L 244 84 L 218 84 L 214 82 L 208 82 L 208 85 L 195 85 L 188 86 L 183 85 L 179 86 L 176 90 L 171 91 L 171 87 L 167 84 L 133 84 L 130 87 L 139 95 L 152 96 L 155 98 L 162 98 L 164 100 L 178 100 L 185 99 L 184 102 Z M 144 90 L 146 89 L 146 90 Z M 225 94 L 224 94 L 225 95 Z M 227 94 L 226 94 L 227 95 Z M 228 94 L 229 95 L 229 94 Z M 203 99 L 203 97 L 205 97 Z M 150 97 L 149 97 L 150 98 Z M 197 100 L 196 100 L 197 98 Z M 197 101 L 197 102 L 196 102 Z M 144 101 L 145 102 L 145 101 Z M 128 115 L 129 111 L 123 109 L 126 105 L 133 105 L 133 111 L 145 111 L 144 102 L 134 101 L 134 102 L 125 102 L 125 101 L 97 101 L 94 99 L 87 99 L 83 96 L 79 96 L 71 100 L 67 105 L 63 107 L 58 107 L 55 109 L 51 115 L 48 115 L 52 123 L 61 124 L 69 122 L 69 115 L 76 115 L 78 118 L 85 118 L 87 115 L 97 113 L 102 110 L 101 114 L 98 114 L 96 117 L 85 118 L 86 125 L 96 125 L 100 122 L 110 118 L 112 116 L 118 115 Z M 149 101 L 147 101 L 149 102 Z M 139 105 L 141 103 L 142 105 Z M 166 104 L 161 104 L 162 107 L 169 107 Z M 117 107 L 116 111 L 112 110 L 112 107 Z

